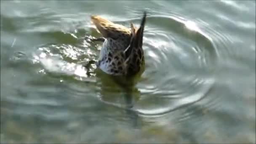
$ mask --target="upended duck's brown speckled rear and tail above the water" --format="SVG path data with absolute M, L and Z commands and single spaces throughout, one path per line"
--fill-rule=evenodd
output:
M 97 67 L 110 75 L 133 76 L 144 71 L 142 49 L 146 13 L 139 29 L 112 23 L 101 16 L 91 16 L 93 24 L 104 37 Z

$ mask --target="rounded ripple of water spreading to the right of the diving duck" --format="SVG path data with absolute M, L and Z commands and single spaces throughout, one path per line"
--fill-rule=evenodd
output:
M 153 19 L 165 25 L 152 26 Z M 132 109 L 143 116 L 163 115 L 203 99 L 215 81 L 218 51 L 212 38 L 195 22 L 181 17 L 149 16 L 148 25 L 144 33 L 146 71 Z M 125 108 L 117 99 L 101 101 Z

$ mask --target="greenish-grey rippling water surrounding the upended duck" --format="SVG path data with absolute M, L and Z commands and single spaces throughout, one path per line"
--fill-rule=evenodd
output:
M 256 143 L 256 2 L 1 0 L 1 143 Z M 139 25 L 129 90 L 84 67 L 90 15 Z

